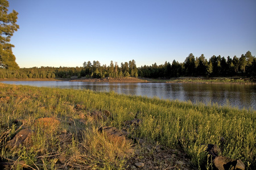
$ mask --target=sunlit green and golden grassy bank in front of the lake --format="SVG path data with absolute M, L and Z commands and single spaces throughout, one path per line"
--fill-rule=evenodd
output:
M 167 150 L 180 150 L 193 168 L 203 164 L 204 144 L 208 143 L 219 146 L 224 156 L 241 159 L 247 167 L 256 166 L 256 111 L 114 92 L 3 83 L 0 106 L 1 160 L 23 161 L 31 169 L 129 169 L 131 158 L 143 160 L 138 152 L 145 149 L 139 140 Z M 110 117 L 92 121 L 86 115 L 93 111 L 108 111 Z M 55 117 L 60 125 L 53 129 L 32 126 L 42 117 Z M 141 123 L 127 126 L 127 121 L 134 118 Z M 8 148 L 7 141 L 27 126 L 35 131 L 32 147 Z M 101 126 L 125 128 L 127 140 L 100 133 Z M 60 156 L 65 158 L 63 162 Z M 170 165 L 179 169 L 172 160 L 168 165 L 152 162 L 158 163 L 159 168 Z

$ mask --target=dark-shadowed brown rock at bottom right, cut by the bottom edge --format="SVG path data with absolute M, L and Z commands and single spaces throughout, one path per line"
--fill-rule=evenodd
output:
M 226 158 L 224 156 L 217 156 L 213 160 L 213 165 L 218 169 L 218 170 L 233 170 L 233 169 L 245 169 L 245 164 L 242 163 L 240 159 L 231 159 L 231 158 Z

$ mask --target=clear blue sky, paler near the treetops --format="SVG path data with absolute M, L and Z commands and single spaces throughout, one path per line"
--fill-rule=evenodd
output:
M 20 29 L 11 43 L 20 67 L 137 66 L 256 55 L 255 0 L 9 0 Z

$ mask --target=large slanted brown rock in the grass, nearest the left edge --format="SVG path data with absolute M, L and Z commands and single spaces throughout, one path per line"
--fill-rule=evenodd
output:
M 32 132 L 30 129 L 22 129 L 11 141 L 7 142 L 7 147 L 13 148 L 19 145 L 30 146 L 32 142 L 31 135 Z

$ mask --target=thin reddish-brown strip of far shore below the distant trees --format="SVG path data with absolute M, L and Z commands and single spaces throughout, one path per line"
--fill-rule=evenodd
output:
M 150 79 L 150 78 L 51 78 L 51 79 L 0 79 L 0 82 L 39 82 L 39 81 L 71 81 L 71 82 L 120 82 L 120 83 L 215 83 L 215 84 L 256 84 L 255 79 L 249 78 L 200 78 L 200 77 L 180 77 L 171 79 Z

